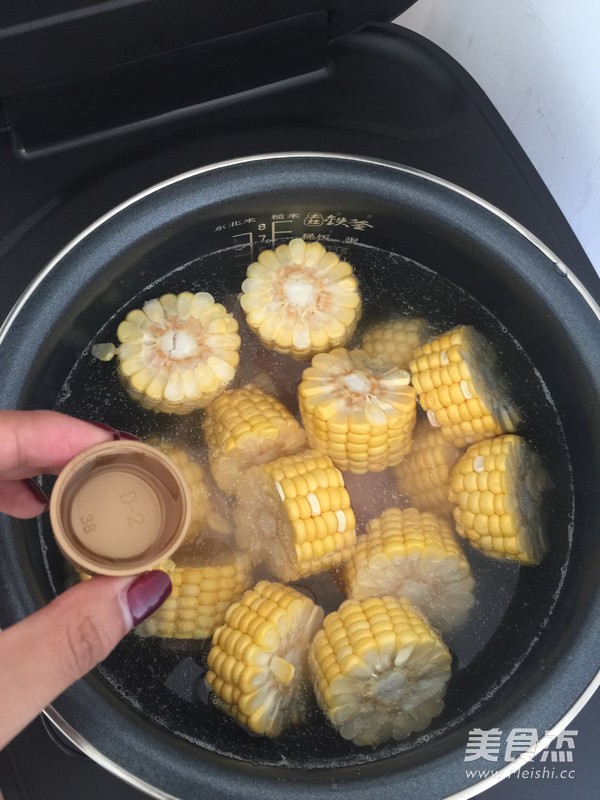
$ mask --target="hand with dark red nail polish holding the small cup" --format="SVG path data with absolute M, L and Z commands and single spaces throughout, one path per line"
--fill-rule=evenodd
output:
M 23 519 L 42 513 L 47 498 L 32 477 L 57 475 L 82 450 L 119 438 L 133 437 L 54 411 L 0 411 L 0 512 Z M 170 592 L 159 570 L 98 577 L 0 631 L 0 749 Z

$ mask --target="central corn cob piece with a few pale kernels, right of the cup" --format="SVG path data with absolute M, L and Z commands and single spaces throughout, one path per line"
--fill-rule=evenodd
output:
M 238 546 L 286 582 L 339 566 L 356 543 L 344 479 L 311 450 L 251 467 L 237 487 L 234 522 Z

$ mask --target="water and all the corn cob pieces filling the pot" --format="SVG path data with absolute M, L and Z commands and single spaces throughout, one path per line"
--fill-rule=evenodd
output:
M 172 597 L 102 674 L 176 736 L 275 766 L 462 724 L 525 657 L 570 548 L 563 431 L 519 342 L 426 265 L 326 245 L 170 264 L 55 405 L 149 440 L 194 495 Z M 206 368 L 190 388 L 165 353 Z

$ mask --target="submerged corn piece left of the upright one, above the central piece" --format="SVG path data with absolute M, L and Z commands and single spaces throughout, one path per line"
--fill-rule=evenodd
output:
M 213 477 L 227 493 L 248 467 L 306 447 L 306 434 L 287 408 L 255 386 L 224 392 L 210 404 L 204 438 Z

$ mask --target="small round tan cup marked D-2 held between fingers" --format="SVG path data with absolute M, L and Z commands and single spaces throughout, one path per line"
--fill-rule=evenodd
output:
M 58 546 L 79 569 L 101 575 L 156 567 L 182 543 L 190 514 L 177 467 L 141 442 L 108 442 L 80 453 L 50 498 Z

